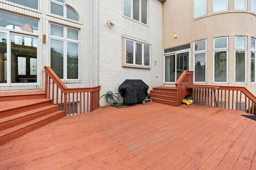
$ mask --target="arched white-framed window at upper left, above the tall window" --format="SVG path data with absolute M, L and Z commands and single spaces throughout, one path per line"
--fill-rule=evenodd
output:
M 50 13 L 79 21 L 77 14 L 64 4 L 64 0 L 50 0 Z

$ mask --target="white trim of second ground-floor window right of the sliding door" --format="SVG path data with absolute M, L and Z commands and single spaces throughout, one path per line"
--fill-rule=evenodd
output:
M 222 39 L 222 38 L 226 38 L 227 39 L 227 41 L 226 41 L 226 48 L 215 48 L 215 39 Z M 214 70 L 215 70 L 215 64 L 214 64 L 214 62 L 215 62 L 215 58 L 214 58 L 214 53 L 215 52 L 218 52 L 218 51 L 226 51 L 227 52 L 227 61 L 226 61 L 226 70 L 227 70 L 227 72 L 226 72 L 226 77 L 227 77 L 227 81 L 226 82 L 215 82 L 214 81 L 214 77 L 215 77 L 215 72 L 214 72 Z M 228 55 L 229 55 L 229 53 L 228 53 L 228 37 L 217 37 L 217 38 L 214 38 L 213 39 L 213 83 L 220 83 L 220 84 L 227 84 L 228 83 Z

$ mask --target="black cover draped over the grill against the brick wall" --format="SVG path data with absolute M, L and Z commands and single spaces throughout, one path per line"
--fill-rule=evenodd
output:
M 148 85 L 142 80 L 125 80 L 118 92 L 124 98 L 124 104 L 136 104 L 148 96 Z

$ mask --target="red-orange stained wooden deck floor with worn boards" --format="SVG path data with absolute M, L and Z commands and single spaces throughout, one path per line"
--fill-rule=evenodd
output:
M 0 146 L 0 169 L 255 170 L 256 119 L 155 102 L 68 116 Z

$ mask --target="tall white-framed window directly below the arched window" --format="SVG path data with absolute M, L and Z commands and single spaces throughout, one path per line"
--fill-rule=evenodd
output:
M 50 24 L 50 66 L 63 80 L 79 76 L 79 30 Z

